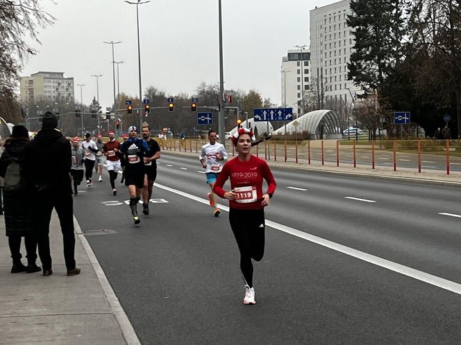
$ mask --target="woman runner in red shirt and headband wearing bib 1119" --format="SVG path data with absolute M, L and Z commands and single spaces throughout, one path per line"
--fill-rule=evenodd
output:
M 264 208 L 276 190 L 276 181 L 265 161 L 251 154 L 252 130 L 240 128 L 230 138 L 237 157 L 224 164 L 213 191 L 229 200 L 229 222 L 240 250 L 240 269 L 245 282 L 244 304 L 255 304 L 253 263 L 260 261 L 265 247 Z M 230 179 L 230 191 L 222 188 Z M 262 180 L 267 192 L 262 193 Z

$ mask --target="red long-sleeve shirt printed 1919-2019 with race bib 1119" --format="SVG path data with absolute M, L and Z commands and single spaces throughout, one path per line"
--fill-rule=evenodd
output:
M 231 159 L 219 172 L 213 191 L 224 198 L 224 183 L 230 178 L 230 188 L 237 193 L 236 200 L 229 200 L 229 207 L 242 210 L 264 209 L 262 202 L 262 179 L 267 182 L 267 194 L 276 191 L 276 180 L 266 161 L 251 155 L 249 161 Z

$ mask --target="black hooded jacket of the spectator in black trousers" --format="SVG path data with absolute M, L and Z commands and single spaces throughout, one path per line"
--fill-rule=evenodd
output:
M 70 143 L 56 128 L 42 129 L 24 149 L 24 176 L 35 193 L 71 193 Z

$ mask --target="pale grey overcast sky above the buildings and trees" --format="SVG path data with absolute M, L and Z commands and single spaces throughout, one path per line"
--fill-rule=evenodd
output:
M 43 0 L 56 23 L 41 29 L 39 53 L 22 76 L 65 72 L 83 87 L 83 103 L 97 94 L 103 109 L 113 100 L 112 48 L 120 92 L 137 96 L 136 6 L 123 0 Z M 133 0 L 135 2 L 136 0 Z M 280 65 L 287 50 L 309 44 L 309 11 L 336 0 L 222 0 L 224 87 L 256 89 L 280 104 Z M 142 89 L 194 95 L 201 82 L 219 82 L 218 0 L 152 0 L 139 6 Z M 117 73 L 117 71 L 116 71 Z M 80 87 L 75 87 L 80 101 Z

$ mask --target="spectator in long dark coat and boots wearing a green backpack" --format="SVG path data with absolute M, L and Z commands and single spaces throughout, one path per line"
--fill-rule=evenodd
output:
M 11 273 L 33 273 L 41 270 L 35 264 L 35 260 L 37 260 L 37 238 L 33 231 L 32 213 L 28 207 L 24 207 L 26 186 L 24 176 L 21 176 L 21 167 L 23 164 L 22 154 L 28 142 L 26 127 L 16 125 L 12 129 L 11 137 L 7 138 L 3 144 L 5 151 L 0 158 L 0 176 L 5 178 L 8 170 L 6 188 L 3 194 L 3 207 L 5 211 L 6 236 L 8 236 L 8 245 L 10 245 L 12 258 Z M 27 266 L 21 262 L 22 237 L 24 237 L 26 244 Z

